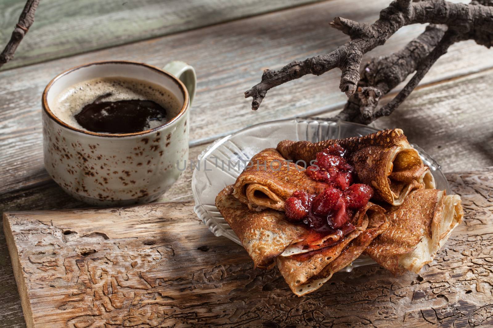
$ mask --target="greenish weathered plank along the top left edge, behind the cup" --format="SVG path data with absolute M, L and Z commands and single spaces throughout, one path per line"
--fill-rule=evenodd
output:
M 232 21 L 317 0 L 43 0 L 15 59 L 20 67 L 184 30 Z M 320 1 L 320 0 L 318 0 Z M 24 6 L 0 2 L 0 45 L 7 43 Z

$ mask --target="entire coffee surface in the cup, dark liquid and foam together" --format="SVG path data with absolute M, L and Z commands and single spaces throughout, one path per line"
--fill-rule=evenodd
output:
M 123 77 L 84 81 L 60 93 L 51 108 L 78 129 L 99 133 L 140 132 L 174 118 L 181 104 L 169 90 Z

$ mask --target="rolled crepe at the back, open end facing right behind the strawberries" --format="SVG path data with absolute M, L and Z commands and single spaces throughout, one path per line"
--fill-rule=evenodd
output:
M 433 176 L 401 129 L 318 143 L 284 140 L 278 144 L 277 150 L 287 159 L 302 160 L 309 165 L 317 152 L 333 144 L 348 150 L 348 158 L 358 179 L 373 186 L 376 196 L 388 204 L 402 204 L 413 189 L 435 187 Z

